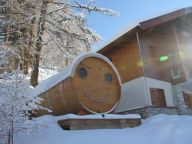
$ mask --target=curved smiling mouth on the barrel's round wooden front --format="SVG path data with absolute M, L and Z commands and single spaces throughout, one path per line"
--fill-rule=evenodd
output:
M 108 99 L 109 96 L 111 96 L 110 92 L 107 92 L 107 94 L 104 97 L 101 98 L 96 98 L 94 96 L 91 96 L 88 92 L 86 92 L 85 90 L 82 90 L 83 94 L 90 99 L 91 101 L 97 102 L 97 103 L 104 103 L 106 102 L 106 100 Z

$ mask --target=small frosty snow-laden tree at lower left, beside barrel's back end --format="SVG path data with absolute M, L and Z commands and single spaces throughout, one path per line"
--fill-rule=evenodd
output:
M 5 144 L 8 136 L 31 128 L 29 111 L 39 108 L 42 99 L 31 96 L 33 87 L 19 71 L 0 74 L 0 144 Z

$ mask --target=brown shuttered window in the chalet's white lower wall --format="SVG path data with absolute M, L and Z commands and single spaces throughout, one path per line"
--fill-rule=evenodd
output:
M 155 106 L 166 106 L 165 92 L 163 89 L 150 88 L 151 103 Z

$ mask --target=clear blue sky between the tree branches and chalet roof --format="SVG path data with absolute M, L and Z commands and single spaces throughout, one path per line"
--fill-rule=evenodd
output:
M 87 16 L 88 25 L 102 39 L 93 46 L 100 49 L 124 28 L 154 15 L 192 6 L 192 0 L 95 0 L 99 7 L 109 8 L 120 13 L 119 16 L 106 16 L 91 13 Z

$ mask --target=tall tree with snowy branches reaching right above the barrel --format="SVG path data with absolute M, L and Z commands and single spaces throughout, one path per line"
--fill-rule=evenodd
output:
M 44 43 L 52 42 L 60 50 L 68 64 L 69 57 L 79 54 L 81 51 L 88 51 L 92 43 L 99 40 L 87 26 L 85 11 L 100 12 L 108 15 L 117 14 L 109 9 L 91 6 L 91 1 L 86 5 L 78 1 L 68 0 L 44 0 L 41 8 L 41 18 L 38 27 L 38 39 L 36 41 L 35 62 L 31 76 L 31 84 L 38 84 L 38 68 L 40 54 Z M 43 34 L 45 39 L 43 39 Z

